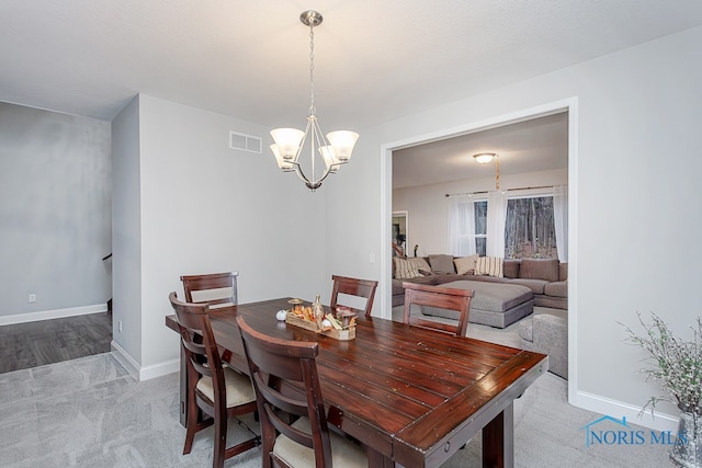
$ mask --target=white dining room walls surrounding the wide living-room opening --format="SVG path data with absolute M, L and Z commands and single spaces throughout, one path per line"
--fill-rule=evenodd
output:
M 268 155 L 226 148 L 229 129 L 265 137 L 268 128 L 141 96 L 139 365 L 178 355 L 163 316 L 183 273 L 239 270 L 242 301 L 326 295 L 332 273 L 377 278 L 374 313 L 388 315 L 388 149 L 577 102 L 568 181 L 576 208 L 570 401 L 635 420 L 659 389 L 636 373 L 643 354 L 623 343 L 618 321 L 633 324 L 636 310 L 654 310 L 684 332 L 699 315 L 700 43 L 698 27 L 361 129 L 352 162 L 316 194 L 278 172 Z M 203 196 L 212 204 L 196 206 Z M 661 412 L 677 414 L 665 406 Z M 638 422 L 660 426 L 672 418 Z

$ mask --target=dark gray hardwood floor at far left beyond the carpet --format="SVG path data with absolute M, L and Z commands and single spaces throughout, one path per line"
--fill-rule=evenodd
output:
M 106 353 L 112 313 L 0 327 L 0 374 Z

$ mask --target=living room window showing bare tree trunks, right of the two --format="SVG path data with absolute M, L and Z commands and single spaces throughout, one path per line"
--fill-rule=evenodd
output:
M 505 258 L 558 258 L 553 196 L 511 198 L 507 202 Z

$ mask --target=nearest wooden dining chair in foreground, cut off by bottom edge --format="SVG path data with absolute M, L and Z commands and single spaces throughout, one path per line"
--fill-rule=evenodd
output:
M 237 324 L 259 406 L 262 466 L 367 467 L 365 449 L 327 426 L 317 342 L 265 335 L 242 316 Z

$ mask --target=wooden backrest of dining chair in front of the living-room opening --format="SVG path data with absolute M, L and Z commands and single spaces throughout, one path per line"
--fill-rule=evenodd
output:
M 457 336 L 465 336 L 468 329 L 468 313 L 473 290 L 407 282 L 403 283 L 403 287 L 405 288 L 404 323 L 453 333 Z M 412 305 L 455 310 L 458 312 L 458 323 L 456 326 L 412 316 Z

